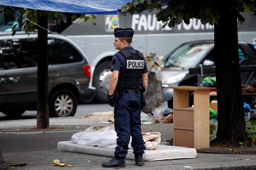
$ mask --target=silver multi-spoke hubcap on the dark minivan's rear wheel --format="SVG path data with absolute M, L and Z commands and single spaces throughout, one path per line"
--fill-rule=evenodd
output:
M 67 116 L 73 110 L 73 100 L 68 94 L 61 94 L 55 100 L 54 107 L 59 116 Z

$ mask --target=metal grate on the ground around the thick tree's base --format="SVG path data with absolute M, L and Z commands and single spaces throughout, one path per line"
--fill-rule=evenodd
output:
M 236 152 L 236 150 L 230 150 L 228 148 L 219 148 L 219 147 L 210 147 L 208 149 L 198 149 L 196 152 L 202 152 L 202 153 L 218 153 L 218 154 L 240 154 L 240 155 L 256 155 L 256 149 L 255 151 L 248 152 L 248 151 L 241 151 L 243 149 L 239 149 L 239 151 Z

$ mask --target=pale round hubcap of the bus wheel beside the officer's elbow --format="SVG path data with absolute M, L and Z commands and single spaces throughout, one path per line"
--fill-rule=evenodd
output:
M 112 72 L 110 71 L 110 69 L 105 69 L 100 73 L 98 83 L 100 86 L 100 92 L 103 94 L 108 93 L 111 74 Z

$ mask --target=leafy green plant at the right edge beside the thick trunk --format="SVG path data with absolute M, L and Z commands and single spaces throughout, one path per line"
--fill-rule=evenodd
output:
M 239 142 L 240 145 L 242 146 L 252 146 L 255 147 L 255 139 L 256 139 L 256 120 L 251 120 L 250 121 L 251 124 L 249 123 L 245 123 L 246 124 L 246 128 L 245 128 L 245 132 L 248 134 L 248 136 L 245 139 L 245 142 Z

